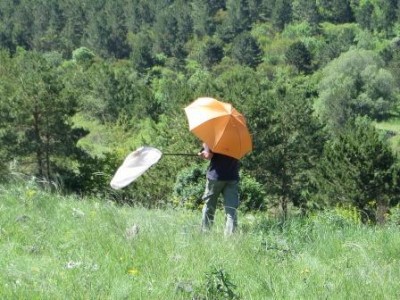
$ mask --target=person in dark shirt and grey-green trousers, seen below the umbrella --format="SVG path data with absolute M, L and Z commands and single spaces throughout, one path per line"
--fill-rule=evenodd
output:
M 202 229 L 207 231 L 214 223 L 219 195 L 223 195 L 225 209 L 225 235 L 231 235 L 237 228 L 239 207 L 239 160 L 224 154 L 214 153 L 203 144 L 198 155 L 210 161 L 203 195 Z

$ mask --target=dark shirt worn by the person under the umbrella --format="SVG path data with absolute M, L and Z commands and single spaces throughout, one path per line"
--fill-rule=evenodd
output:
M 239 180 L 239 160 L 214 153 L 208 166 L 207 178 L 211 180 Z

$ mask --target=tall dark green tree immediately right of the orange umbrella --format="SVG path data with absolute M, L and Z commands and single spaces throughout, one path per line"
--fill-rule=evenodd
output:
M 310 180 L 324 137 L 313 116 L 315 91 L 306 78 L 280 75 L 274 88 L 248 103 L 247 116 L 254 132 L 255 149 L 246 168 L 264 184 L 268 199 L 278 204 L 283 216 L 293 203 L 307 209 L 315 187 Z

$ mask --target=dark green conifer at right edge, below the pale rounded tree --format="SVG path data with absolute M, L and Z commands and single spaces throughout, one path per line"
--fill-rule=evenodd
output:
M 365 222 L 383 222 L 399 201 L 396 163 L 370 120 L 351 120 L 325 145 L 317 173 L 319 197 L 330 205 L 355 206 Z

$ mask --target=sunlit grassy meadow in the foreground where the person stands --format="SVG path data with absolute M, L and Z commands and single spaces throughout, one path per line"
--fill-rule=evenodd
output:
M 400 299 L 397 225 L 331 211 L 285 224 L 0 186 L 0 299 Z M 138 230 L 133 230 L 132 226 Z M 129 230 L 132 229 L 132 230 Z

